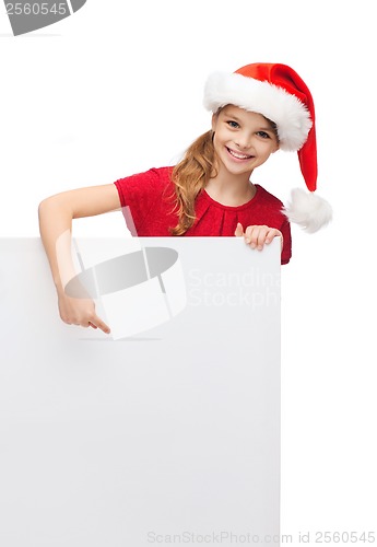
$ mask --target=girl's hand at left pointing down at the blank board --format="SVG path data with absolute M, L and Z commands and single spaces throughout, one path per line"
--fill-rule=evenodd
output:
M 110 329 L 95 313 L 95 304 L 91 299 L 72 299 L 59 293 L 58 305 L 61 319 L 68 325 L 99 328 L 105 334 Z

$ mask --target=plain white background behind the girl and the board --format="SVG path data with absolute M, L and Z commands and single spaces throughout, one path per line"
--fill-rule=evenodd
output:
M 308 531 L 314 544 L 316 532 L 377 529 L 373 5 L 87 0 L 19 37 L 0 10 L 0 236 L 38 235 L 48 195 L 172 164 L 209 128 L 213 70 L 283 62 L 311 90 L 318 194 L 334 220 L 315 235 L 293 226 L 282 269 L 282 533 L 297 545 Z M 252 181 L 283 201 L 304 186 L 284 152 Z M 120 221 L 75 230 L 118 235 Z

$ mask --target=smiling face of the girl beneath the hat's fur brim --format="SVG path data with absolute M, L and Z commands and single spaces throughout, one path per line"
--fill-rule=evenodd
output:
M 262 165 L 279 149 L 274 129 L 261 114 L 227 105 L 212 117 L 219 167 L 244 175 Z

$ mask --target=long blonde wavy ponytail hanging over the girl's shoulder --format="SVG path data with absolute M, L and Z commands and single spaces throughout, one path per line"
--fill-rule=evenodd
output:
M 215 152 L 213 132 L 201 135 L 187 149 L 184 159 L 173 168 L 172 182 L 175 185 L 175 210 L 178 224 L 170 229 L 172 235 L 182 235 L 195 220 L 195 201 L 214 173 Z

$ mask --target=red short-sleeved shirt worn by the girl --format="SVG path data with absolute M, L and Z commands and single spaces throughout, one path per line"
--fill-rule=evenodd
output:
M 170 179 L 173 167 L 151 168 L 115 182 L 120 203 L 129 207 L 125 211 L 128 229 L 133 235 L 170 236 L 169 228 L 178 223 L 174 212 L 174 184 Z M 283 203 L 256 185 L 252 199 L 237 207 L 219 203 L 202 189 L 196 199 L 196 221 L 184 234 L 188 236 L 232 236 L 240 222 L 244 229 L 252 224 L 276 228 L 283 234 L 282 264 L 287 264 L 292 255 L 291 228 L 282 212 Z

